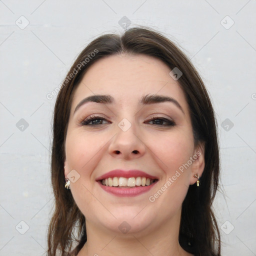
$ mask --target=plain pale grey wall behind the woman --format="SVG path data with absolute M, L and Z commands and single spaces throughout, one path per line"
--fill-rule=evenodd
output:
M 256 255 L 255 12 L 256 0 L 0 1 L 0 255 L 45 254 L 56 98 L 46 95 L 123 16 L 173 39 L 199 70 L 218 122 L 222 255 Z

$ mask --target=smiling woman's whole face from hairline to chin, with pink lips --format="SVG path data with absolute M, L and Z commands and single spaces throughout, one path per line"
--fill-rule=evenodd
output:
M 64 174 L 86 226 L 120 234 L 153 231 L 171 221 L 178 228 L 182 201 L 204 159 L 194 146 L 184 93 L 169 72 L 151 56 L 112 55 L 95 62 L 78 85 Z M 112 100 L 77 107 L 95 95 Z

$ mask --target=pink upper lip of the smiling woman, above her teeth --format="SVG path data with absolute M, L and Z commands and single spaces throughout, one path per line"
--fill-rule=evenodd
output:
M 105 174 L 99 176 L 96 178 L 96 181 L 104 179 L 104 178 L 109 178 L 109 177 L 146 177 L 146 178 L 151 178 L 151 179 L 157 179 L 157 177 L 149 175 L 148 173 L 142 171 L 142 170 L 122 170 L 122 169 L 114 169 L 106 172 Z

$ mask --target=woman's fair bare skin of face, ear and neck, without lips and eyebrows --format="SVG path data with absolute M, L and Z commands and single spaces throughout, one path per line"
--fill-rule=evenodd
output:
M 204 149 L 201 144 L 194 145 L 188 104 L 178 80 L 169 72 L 165 63 L 151 56 L 107 56 L 89 67 L 75 91 L 64 174 L 67 177 L 75 169 L 80 175 L 76 182 L 70 182 L 73 198 L 86 219 L 87 242 L 78 256 L 191 255 L 178 243 L 181 204 L 189 185 L 197 180 L 193 175 L 201 176 Z M 94 94 L 109 94 L 115 103 L 88 102 L 73 114 L 80 100 Z M 146 94 L 170 96 L 184 113 L 172 102 L 138 104 Z M 94 126 L 79 125 L 91 114 L 105 120 Z M 155 116 L 173 120 L 175 125 L 150 121 Z M 118 127 L 122 118 L 131 124 L 125 132 Z M 158 198 L 149 201 L 149 196 L 196 152 L 200 152 L 197 159 Z M 95 181 L 116 168 L 143 170 L 157 176 L 158 181 L 143 194 L 117 197 Z M 131 227 L 125 234 L 118 229 L 123 221 Z

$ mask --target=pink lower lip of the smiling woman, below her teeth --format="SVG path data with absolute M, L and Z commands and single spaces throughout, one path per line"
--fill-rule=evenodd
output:
M 116 196 L 136 196 L 150 190 L 155 185 L 155 183 L 157 183 L 157 181 L 155 181 L 154 183 L 148 186 L 135 186 L 132 188 L 119 188 L 114 186 L 105 186 L 105 185 L 102 185 L 100 181 L 98 181 L 98 183 L 100 187 L 104 189 L 106 192 L 114 194 Z

